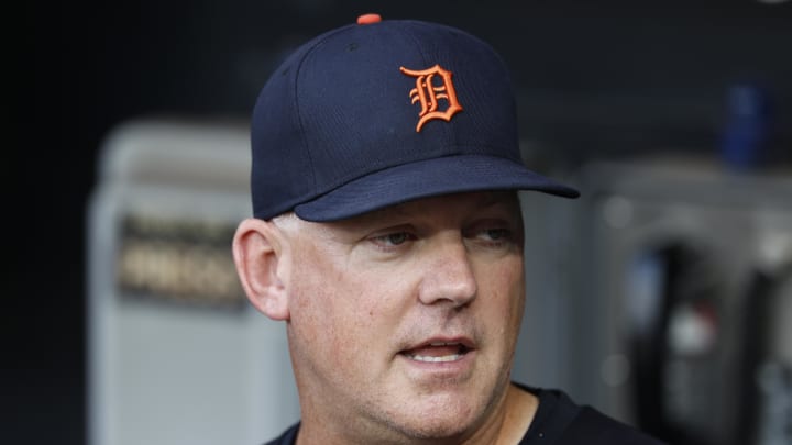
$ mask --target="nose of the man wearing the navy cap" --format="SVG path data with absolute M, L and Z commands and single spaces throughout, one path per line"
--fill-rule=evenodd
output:
M 477 285 L 462 237 L 449 236 L 427 248 L 418 299 L 424 304 L 450 301 L 454 307 L 471 302 Z

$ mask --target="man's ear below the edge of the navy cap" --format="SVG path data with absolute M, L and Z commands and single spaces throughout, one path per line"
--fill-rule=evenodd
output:
M 273 320 L 288 320 L 288 298 L 280 274 L 288 267 L 284 234 L 268 221 L 246 219 L 237 227 L 233 257 L 250 302 Z M 278 267 L 280 266 L 280 267 Z

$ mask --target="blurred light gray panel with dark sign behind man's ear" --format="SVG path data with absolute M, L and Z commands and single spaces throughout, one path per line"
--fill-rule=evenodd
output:
M 299 416 L 285 326 L 231 258 L 250 214 L 244 125 L 125 124 L 89 213 L 89 440 L 261 443 Z

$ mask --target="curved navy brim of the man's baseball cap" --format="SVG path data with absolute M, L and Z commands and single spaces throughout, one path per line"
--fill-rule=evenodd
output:
M 400 165 L 358 178 L 295 207 L 306 221 L 328 222 L 440 194 L 486 190 L 536 190 L 564 198 L 580 192 L 492 156 L 447 156 Z

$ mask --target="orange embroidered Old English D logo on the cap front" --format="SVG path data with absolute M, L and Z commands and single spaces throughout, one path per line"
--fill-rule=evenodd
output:
M 411 103 L 420 102 L 421 104 L 421 111 L 418 114 L 420 120 L 416 132 L 420 132 L 427 121 L 442 119 L 450 122 L 452 115 L 462 111 L 462 105 L 457 100 L 453 82 L 451 82 L 451 71 L 443 69 L 440 65 L 421 70 L 399 67 L 399 70 L 416 78 L 416 87 L 409 92 L 409 97 L 413 98 Z M 439 110 L 440 99 L 446 99 L 448 102 L 444 110 Z

